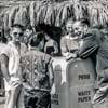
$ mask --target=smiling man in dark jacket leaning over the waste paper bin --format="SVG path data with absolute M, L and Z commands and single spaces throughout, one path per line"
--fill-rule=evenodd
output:
M 98 29 L 89 27 L 86 19 L 73 24 L 75 33 L 83 38 L 83 44 L 78 52 L 81 58 L 92 57 L 96 63 L 98 90 L 93 98 L 93 104 L 108 100 L 108 41 Z

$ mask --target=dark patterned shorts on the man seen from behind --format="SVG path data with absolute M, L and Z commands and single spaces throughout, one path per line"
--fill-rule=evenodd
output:
M 51 108 L 50 92 L 31 90 L 24 93 L 25 108 Z

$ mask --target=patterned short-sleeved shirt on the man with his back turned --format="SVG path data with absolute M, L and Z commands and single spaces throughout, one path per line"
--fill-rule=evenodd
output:
M 21 64 L 26 85 L 31 89 L 50 90 L 48 70 L 50 60 L 50 55 L 35 50 L 22 56 Z

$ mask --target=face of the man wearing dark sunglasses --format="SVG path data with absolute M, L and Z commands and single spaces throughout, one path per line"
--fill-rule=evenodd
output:
M 14 42 L 19 42 L 23 38 L 23 30 L 19 27 L 13 27 L 10 31 L 10 36 Z

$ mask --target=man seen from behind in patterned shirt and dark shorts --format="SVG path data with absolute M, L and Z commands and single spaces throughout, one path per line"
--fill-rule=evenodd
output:
M 50 92 L 54 76 L 51 56 L 41 52 L 42 40 L 39 33 L 35 36 L 29 42 L 29 52 L 21 59 L 26 108 L 51 108 Z

